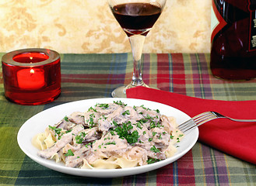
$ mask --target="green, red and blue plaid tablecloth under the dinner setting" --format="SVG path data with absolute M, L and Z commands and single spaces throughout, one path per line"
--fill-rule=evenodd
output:
M 202 143 L 166 167 L 113 179 L 51 171 L 19 149 L 16 135 L 31 116 L 65 102 L 110 97 L 114 88 L 131 81 L 132 65 L 131 53 L 61 54 L 61 96 L 37 106 L 16 105 L 5 99 L 1 69 L 0 185 L 256 185 L 254 164 Z M 232 82 L 212 77 L 209 53 L 144 54 L 142 73 L 146 84 L 164 91 L 220 100 L 256 99 L 256 80 Z

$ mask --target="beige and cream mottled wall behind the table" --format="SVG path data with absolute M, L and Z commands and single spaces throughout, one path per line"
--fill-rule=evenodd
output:
M 211 0 L 167 0 L 144 53 L 209 53 Z M 107 0 L 1 0 L 0 52 L 126 53 L 128 39 Z

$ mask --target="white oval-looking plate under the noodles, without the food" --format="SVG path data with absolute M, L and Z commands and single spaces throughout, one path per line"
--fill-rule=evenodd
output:
M 141 167 L 132 167 L 124 169 L 110 169 L 110 170 L 87 170 L 72 167 L 65 167 L 64 164 L 56 164 L 54 160 L 45 160 L 44 158 L 37 156 L 37 148 L 31 143 L 33 136 L 37 133 L 43 133 L 44 129 L 55 123 L 59 122 L 65 117 L 65 115 L 70 115 L 72 112 L 85 112 L 89 107 L 96 105 L 96 103 L 111 103 L 113 101 L 121 101 L 130 106 L 145 105 L 147 108 L 159 109 L 160 113 L 167 116 L 174 116 L 177 119 L 177 123 L 181 123 L 190 119 L 188 115 L 181 112 L 177 108 L 170 107 L 168 105 L 163 105 L 157 102 L 149 102 L 141 99 L 132 98 L 96 98 L 87 99 L 77 102 L 69 102 L 63 105 L 58 105 L 52 108 L 34 115 L 32 118 L 28 119 L 23 126 L 19 129 L 17 140 L 19 147 L 24 153 L 32 160 L 36 161 L 45 167 L 51 168 L 54 171 L 59 171 L 65 174 L 73 174 L 84 177 L 122 177 L 132 174 L 141 174 L 148 171 L 156 170 L 157 168 L 163 167 L 167 164 L 174 162 L 175 160 L 181 158 L 188 150 L 195 145 L 198 140 L 198 128 L 191 130 L 190 133 L 186 133 L 181 143 L 178 143 L 179 147 L 177 153 L 174 157 L 167 158 L 160 162 L 149 164 Z

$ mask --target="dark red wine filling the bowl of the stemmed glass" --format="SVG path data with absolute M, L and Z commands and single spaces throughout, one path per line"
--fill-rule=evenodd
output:
M 156 5 L 138 2 L 115 5 L 112 12 L 127 36 L 146 36 L 159 18 L 162 9 Z

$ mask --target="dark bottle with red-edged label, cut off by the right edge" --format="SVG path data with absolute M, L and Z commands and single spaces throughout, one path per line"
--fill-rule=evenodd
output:
M 256 77 L 256 0 L 212 0 L 212 74 L 226 80 Z

